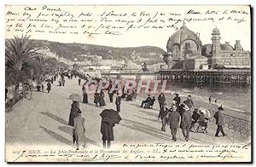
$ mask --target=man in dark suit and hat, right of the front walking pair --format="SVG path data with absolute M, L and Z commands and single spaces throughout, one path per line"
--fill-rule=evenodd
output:
M 192 123 L 191 114 L 189 113 L 189 107 L 186 104 L 183 104 L 183 114 L 181 114 L 181 124 L 180 127 L 183 131 L 183 136 L 185 141 L 189 141 L 189 130 Z

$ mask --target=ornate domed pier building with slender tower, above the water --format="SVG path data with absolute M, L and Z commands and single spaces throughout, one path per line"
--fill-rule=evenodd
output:
M 212 30 L 212 43 L 202 45 L 200 33 L 183 26 L 169 37 L 164 55 L 169 69 L 218 69 L 251 68 L 251 53 L 243 50 L 240 40 L 234 47 L 229 42 L 221 43 L 218 28 Z

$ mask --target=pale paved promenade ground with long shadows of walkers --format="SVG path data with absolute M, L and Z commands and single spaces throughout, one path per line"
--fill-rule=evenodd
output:
M 57 80 L 51 92 L 33 92 L 32 100 L 21 100 L 13 111 L 6 113 L 6 141 L 12 143 L 49 144 L 73 146 L 73 128 L 67 125 L 72 101 L 68 96 L 76 93 L 82 95 L 82 86 L 78 84 L 79 78 L 73 80 L 66 78 L 65 87 L 57 86 Z M 82 81 L 84 83 L 84 81 Z M 46 86 L 45 86 L 46 87 Z M 115 96 L 113 97 L 115 100 Z M 82 116 L 85 118 L 86 138 L 88 147 L 102 147 L 100 133 L 101 117 L 99 113 L 103 108 L 115 109 L 114 101 L 109 103 L 108 94 L 105 94 L 106 107 L 96 107 L 93 95 L 89 95 L 89 104 L 80 103 Z M 120 124 L 114 127 L 114 140 L 112 147 L 118 143 L 172 143 L 169 127 L 166 132 L 160 131 L 161 123 L 157 121 L 159 111 L 156 109 L 143 109 L 139 107 L 140 101 L 122 101 Z M 158 101 L 154 105 L 158 105 Z M 156 108 L 156 107 L 155 107 Z M 209 125 L 208 133 L 190 133 L 190 140 L 184 141 L 182 131 L 177 131 L 177 143 L 244 143 L 247 138 L 237 132 L 224 129 L 229 137 L 215 137 L 216 125 Z M 236 139 L 234 138 L 236 136 Z

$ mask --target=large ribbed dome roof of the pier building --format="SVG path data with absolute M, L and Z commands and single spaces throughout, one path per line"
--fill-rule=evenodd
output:
M 172 51 L 172 47 L 175 43 L 181 45 L 185 40 L 193 40 L 199 46 L 201 45 L 200 38 L 195 34 L 195 32 L 190 31 L 187 26 L 183 24 L 183 26 L 169 37 L 166 49 L 167 51 Z

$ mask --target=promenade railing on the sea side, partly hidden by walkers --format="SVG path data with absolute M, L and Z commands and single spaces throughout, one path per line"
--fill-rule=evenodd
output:
M 141 95 L 140 98 L 146 98 L 147 95 Z M 155 96 L 157 98 L 157 96 Z M 172 101 L 170 98 L 166 98 L 168 101 Z M 156 104 L 156 103 L 155 103 Z M 159 105 L 154 105 L 158 110 Z M 196 107 L 196 106 L 195 106 Z M 210 124 L 215 124 L 216 119 L 213 118 L 213 115 L 216 111 L 209 110 L 211 112 L 211 118 L 209 119 Z M 242 118 L 236 118 L 234 116 L 230 116 L 228 114 L 222 114 L 224 118 L 224 127 L 229 130 L 234 130 L 235 132 L 239 132 L 240 134 L 245 134 L 247 136 L 251 135 L 251 121 Z

